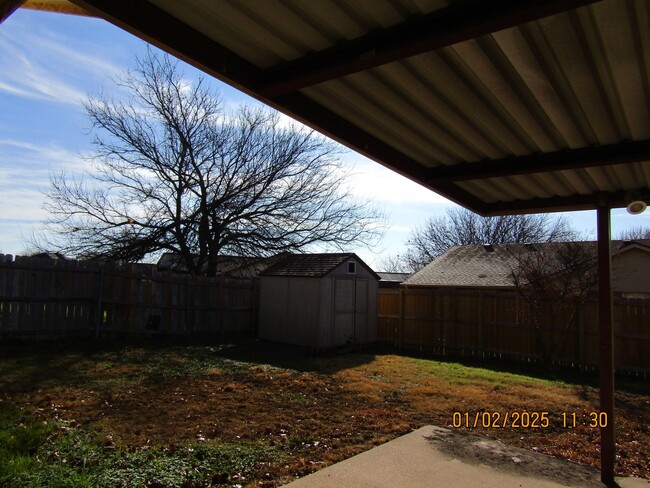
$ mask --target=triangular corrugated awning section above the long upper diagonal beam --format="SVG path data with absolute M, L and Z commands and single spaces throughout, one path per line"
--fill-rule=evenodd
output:
M 261 68 L 446 7 L 449 2 L 150 0 Z

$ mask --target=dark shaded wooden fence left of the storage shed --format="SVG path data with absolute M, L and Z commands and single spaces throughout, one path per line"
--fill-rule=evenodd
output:
M 0 336 L 246 333 L 257 296 L 254 279 L 0 254 Z

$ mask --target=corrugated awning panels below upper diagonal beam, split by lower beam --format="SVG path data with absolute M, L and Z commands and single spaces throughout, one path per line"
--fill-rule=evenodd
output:
M 641 75 L 647 68 L 632 77 L 626 73 L 630 62 L 639 61 L 629 53 L 647 41 L 639 40 L 638 28 L 623 36 L 618 29 L 598 30 L 606 24 L 603 18 L 638 25 L 625 4 L 604 3 L 303 92 L 424 166 L 645 139 L 650 119 L 647 105 L 638 100 L 647 89 Z M 458 115 L 467 113 L 477 117 L 468 122 Z M 570 196 L 648 186 L 643 167 L 647 164 L 636 163 L 633 171 L 588 168 L 458 185 L 487 202 Z

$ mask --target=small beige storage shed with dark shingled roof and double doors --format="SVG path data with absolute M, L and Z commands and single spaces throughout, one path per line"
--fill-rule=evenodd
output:
M 374 342 L 378 281 L 354 253 L 288 255 L 260 274 L 259 338 L 314 348 Z

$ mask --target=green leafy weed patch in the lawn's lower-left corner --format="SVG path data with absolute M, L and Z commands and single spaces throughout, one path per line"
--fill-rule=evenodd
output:
M 0 410 L 0 486 L 16 488 L 232 486 L 284 454 L 263 443 L 117 448 L 83 429 Z

